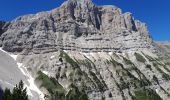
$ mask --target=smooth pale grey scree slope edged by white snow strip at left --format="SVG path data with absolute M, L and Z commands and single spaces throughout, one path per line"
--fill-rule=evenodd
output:
M 17 63 L 16 55 L 7 53 L 0 49 L 0 86 L 2 89 L 13 89 L 16 84 L 23 80 L 25 87 L 27 87 L 27 93 L 32 100 L 39 99 L 39 93 L 31 87 L 29 77 L 26 75 L 25 69 L 22 64 Z

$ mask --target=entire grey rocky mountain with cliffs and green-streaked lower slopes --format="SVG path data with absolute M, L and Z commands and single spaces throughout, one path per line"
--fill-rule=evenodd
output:
M 0 22 L 0 30 L 1 71 L 20 70 L 0 77 L 1 87 L 15 85 L 9 80 L 17 76 L 31 100 L 170 99 L 168 49 L 116 6 L 67 0 L 51 11 Z

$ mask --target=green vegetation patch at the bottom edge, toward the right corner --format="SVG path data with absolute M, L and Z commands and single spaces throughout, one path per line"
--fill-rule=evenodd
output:
M 162 100 L 152 89 L 141 89 L 135 91 L 135 100 Z

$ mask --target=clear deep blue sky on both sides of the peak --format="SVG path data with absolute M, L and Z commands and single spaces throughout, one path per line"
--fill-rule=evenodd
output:
M 10 21 L 24 14 L 48 11 L 64 0 L 1 0 L 0 20 Z M 170 0 L 93 0 L 97 5 L 116 5 L 146 22 L 154 40 L 170 41 Z

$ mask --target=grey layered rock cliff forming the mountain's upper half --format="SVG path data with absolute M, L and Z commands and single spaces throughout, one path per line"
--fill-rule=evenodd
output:
M 1 40 L 3 49 L 10 52 L 153 49 L 144 23 L 118 7 L 96 6 L 91 0 L 68 0 L 51 11 L 18 17 Z

